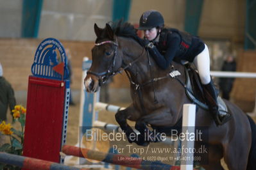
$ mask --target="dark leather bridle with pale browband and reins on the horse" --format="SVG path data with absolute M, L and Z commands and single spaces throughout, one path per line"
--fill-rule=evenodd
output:
M 115 45 L 115 50 L 114 50 L 114 56 L 113 56 L 113 61 L 112 61 L 112 65 L 110 65 L 108 67 L 108 70 L 105 71 L 105 72 L 92 72 L 92 71 L 87 71 L 87 74 L 90 73 L 92 75 L 96 75 L 99 79 L 99 85 L 101 86 L 101 84 L 105 84 L 107 82 L 107 80 L 110 78 L 110 77 L 113 77 L 116 73 L 121 73 L 123 72 L 123 70 L 126 70 L 127 68 L 129 68 L 130 66 L 133 65 L 133 63 L 137 62 L 139 60 L 139 58 L 141 58 L 142 54 L 144 54 L 144 48 L 143 48 L 143 51 L 142 51 L 142 54 L 136 58 L 135 60 L 133 60 L 131 63 L 128 63 L 128 65 L 126 66 L 123 66 L 123 68 L 119 68 L 117 71 L 114 71 L 114 67 L 115 67 L 115 59 L 116 59 L 116 56 L 117 56 L 117 47 L 118 47 L 118 43 L 117 43 L 117 40 L 116 42 L 113 42 L 113 41 L 105 41 L 105 42 L 100 42 L 100 43 L 95 43 L 94 45 L 96 46 L 99 46 L 99 45 L 103 45 L 105 43 L 112 43 L 113 45 Z M 112 68 L 112 69 L 111 69 Z

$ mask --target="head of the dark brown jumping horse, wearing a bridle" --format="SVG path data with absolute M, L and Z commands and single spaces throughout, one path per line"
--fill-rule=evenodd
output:
M 117 36 L 110 25 L 101 29 L 94 24 L 97 39 L 92 48 L 92 66 L 85 77 L 85 89 L 88 92 L 98 91 L 99 86 L 112 77 L 122 65 L 121 52 L 118 49 Z

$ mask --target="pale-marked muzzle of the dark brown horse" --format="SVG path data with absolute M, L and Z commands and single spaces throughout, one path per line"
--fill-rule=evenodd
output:
M 98 77 L 88 74 L 84 80 L 85 89 L 89 93 L 95 93 L 99 90 Z

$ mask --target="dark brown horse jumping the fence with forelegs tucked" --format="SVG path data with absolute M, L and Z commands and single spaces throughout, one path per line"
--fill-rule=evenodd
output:
M 94 93 L 110 77 L 123 71 L 127 73 L 132 104 L 118 111 L 115 119 L 128 141 L 133 141 L 130 138 L 133 129 L 127 120 L 135 121 L 139 132 L 148 125 L 156 129 L 174 127 L 182 118 L 183 104 L 192 103 L 182 86 L 186 81 L 184 66 L 173 61 L 170 69 L 180 74 L 178 78 L 171 78 L 169 69 L 161 70 L 148 56 L 137 30 L 128 22 L 112 26 L 107 23 L 105 28 L 94 24 L 94 32 L 97 38 L 92 48 L 92 65 L 84 79 L 85 89 Z M 208 139 L 203 141 L 209 147 L 208 161 L 201 166 L 223 169 L 221 158 L 224 158 L 228 169 L 256 169 L 255 123 L 235 104 L 224 102 L 232 118 L 221 126 L 216 126 L 209 111 L 197 107 L 196 127 L 206 127 L 208 132 Z M 147 142 L 135 141 L 143 146 Z M 198 147 L 196 141 L 195 148 Z

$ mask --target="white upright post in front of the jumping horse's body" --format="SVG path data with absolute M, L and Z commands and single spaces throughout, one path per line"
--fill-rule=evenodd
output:
M 193 134 L 194 127 L 196 124 L 196 105 L 194 104 L 184 104 L 183 105 L 183 118 L 182 118 L 182 133 L 183 134 Z M 186 135 L 185 135 L 186 136 Z M 190 139 L 190 138 L 189 138 Z M 193 150 L 194 140 L 185 140 L 182 141 L 182 147 Z M 192 151 L 181 153 L 181 170 L 192 170 L 193 169 L 193 156 Z

